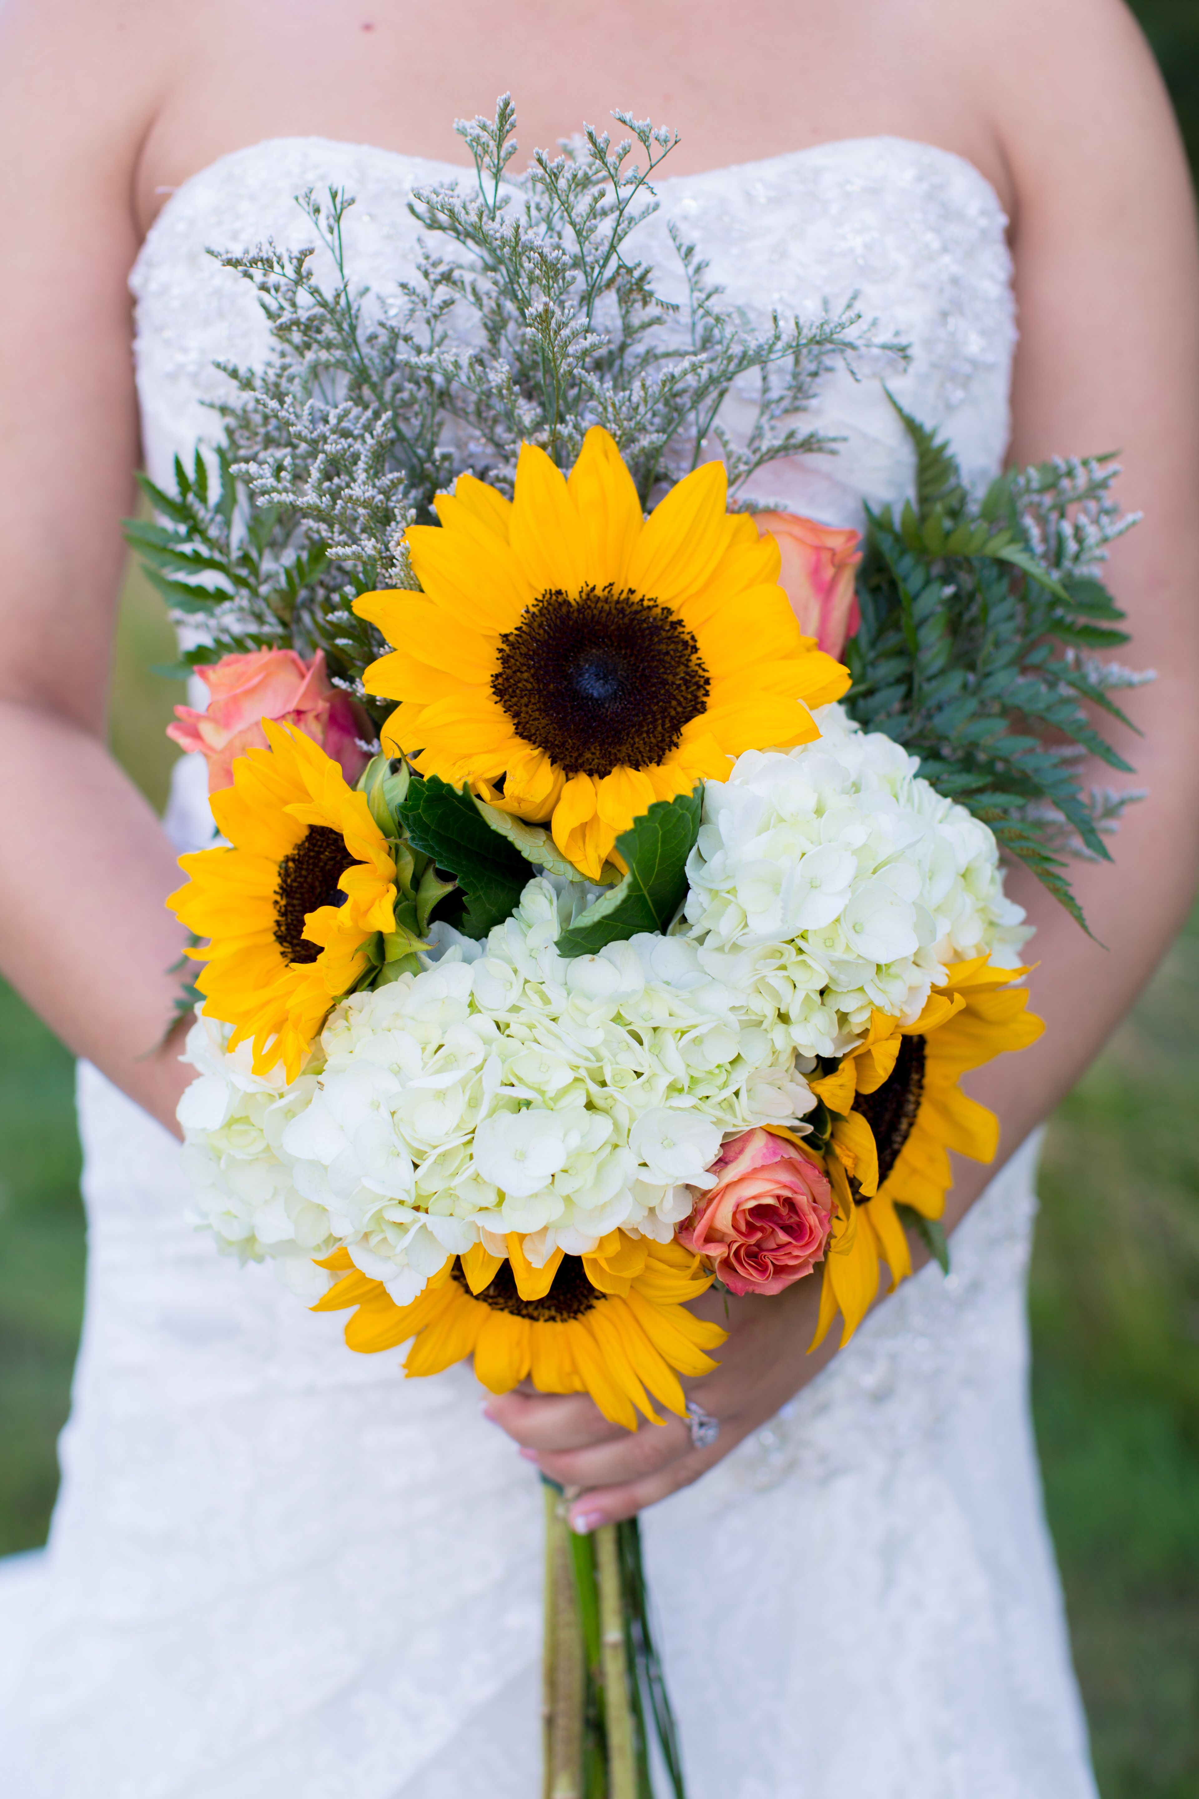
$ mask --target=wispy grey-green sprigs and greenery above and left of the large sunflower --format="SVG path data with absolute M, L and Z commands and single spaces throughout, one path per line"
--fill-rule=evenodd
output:
M 757 329 L 678 236 L 687 302 L 658 295 L 629 234 L 656 210 L 653 176 L 676 139 L 617 117 L 624 142 L 588 130 L 518 176 L 507 97 L 493 121 L 460 122 L 476 182 L 415 194 L 428 241 L 386 295 L 352 282 L 354 201 L 340 189 L 297 196 L 313 228 L 302 250 L 219 254 L 252 282 L 271 353 L 262 367 L 219 365 L 230 389 L 212 468 L 200 453 L 192 470 L 176 462 L 174 493 L 146 484 L 158 522 L 128 527 L 176 622 L 212 639 L 185 660 L 320 648 L 381 721 L 361 673 L 385 644 L 352 601 L 417 585 L 403 534 L 435 520 L 433 498 L 458 473 L 511 493 L 521 443 L 568 466 L 588 426 L 604 425 L 645 504 L 712 439 L 744 488 L 778 457 L 834 448 L 804 414 L 836 362 L 904 360 L 848 306 Z M 748 381 L 757 414 L 732 444 L 719 412 Z

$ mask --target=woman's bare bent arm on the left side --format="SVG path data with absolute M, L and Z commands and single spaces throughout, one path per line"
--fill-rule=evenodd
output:
M 0 13 L 0 970 L 169 1123 L 174 853 L 106 705 L 137 408 L 126 277 L 155 45 L 119 7 Z

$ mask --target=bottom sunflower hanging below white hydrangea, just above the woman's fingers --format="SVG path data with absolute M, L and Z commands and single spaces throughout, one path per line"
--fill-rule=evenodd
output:
M 638 1412 L 662 1423 L 645 1389 L 685 1414 L 678 1376 L 710 1374 L 715 1362 L 705 1351 L 726 1335 L 683 1304 L 712 1284 L 697 1256 L 624 1231 L 600 1238 L 590 1256 L 559 1249 L 545 1268 L 528 1263 L 516 1234 L 507 1252 L 503 1259 L 480 1243 L 451 1258 L 410 1306 L 397 1306 L 336 1250 L 320 1266 L 351 1272 L 313 1311 L 358 1306 L 345 1342 L 367 1355 L 415 1338 L 406 1374 L 439 1374 L 473 1355 L 491 1392 L 532 1376 L 541 1392 L 590 1392 L 604 1418 L 627 1430 L 636 1430 Z

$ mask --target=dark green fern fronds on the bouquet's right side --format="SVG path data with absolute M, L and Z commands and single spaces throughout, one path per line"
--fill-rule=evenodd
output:
M 969 497 L 949 446 L 895 407 L 917 453 L 917 500 L 870 515 L 861 630 L 845 700 L 868 730 L 990 826 L 1079 919 L 1066 858 L 1107 858 L 1104 829 L 1132 793 L 1086 795 L 1080 752 L 1129 765 L 1086 705 L 1124 720 L 1109 691 L 1141 676 L 1093 651 L 1127 642 L 1095 577 L 1122 520 L 1109 462 L 1046 462 Z M 1124 720 L 1127 723 L 1127 720 Z

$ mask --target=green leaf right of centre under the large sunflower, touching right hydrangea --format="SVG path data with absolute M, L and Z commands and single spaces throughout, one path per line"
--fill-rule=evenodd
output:
M 559 955 L 595 955 L 638 930 L 665 930 L 687 898 L 687 858 L 699 837 L 703 788 L 660 799 L 617 838 L 627 874 L 557 939 Z

